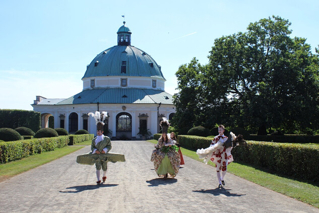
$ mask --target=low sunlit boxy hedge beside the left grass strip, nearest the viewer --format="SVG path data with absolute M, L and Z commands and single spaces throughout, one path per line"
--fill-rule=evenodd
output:
M 0 163 L 15 161 L 32 154 L 52 151 L 55 148 L 67 146 L 68 143 L 69 136 L 0 142 Z

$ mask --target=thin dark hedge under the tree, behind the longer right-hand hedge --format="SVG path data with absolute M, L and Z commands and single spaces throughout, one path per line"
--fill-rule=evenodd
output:
M 319 135 L 250 135 L 245 139 L 278 143 L 319 143 Z

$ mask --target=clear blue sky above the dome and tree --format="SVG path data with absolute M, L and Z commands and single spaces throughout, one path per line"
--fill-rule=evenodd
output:
M 117 45 L 122 26 L 132 45 L 162 67 L 165 90 L 176 92 L 175 72 L 196 57 L 207 64 L 216 38 L 246 31 L 275 15 L 291 36 L 319 44 L 319 1 L 0 1 L 0 109 L 33 110 L 36 95 L 68 98 L 82 91 L 86 66 Z

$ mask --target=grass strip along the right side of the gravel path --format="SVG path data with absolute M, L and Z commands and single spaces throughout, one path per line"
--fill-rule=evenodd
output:
M 154 144 L 157 143 L 157 140 L 148 141 Z M 185 156 L 203 162 L 195 151 L 181 147 L 181 152 Z M 215 167 L 215 164 L 211 161 L 209 161 L 208 165 Z M 319 208 L 318 186 L 270 174 L 247 164 L 231 163 L 227 167 L 227 171 L 233 175 Z

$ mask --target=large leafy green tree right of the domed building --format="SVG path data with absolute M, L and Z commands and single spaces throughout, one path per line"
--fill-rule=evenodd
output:
M 274 16 L 250 23 L 247 32 L 215 39 L 208 65 L 180 66 L 175 125 L 221 123 L 261 135 L 319 129 L 318 49 L 291 38 L 290 24 Z

